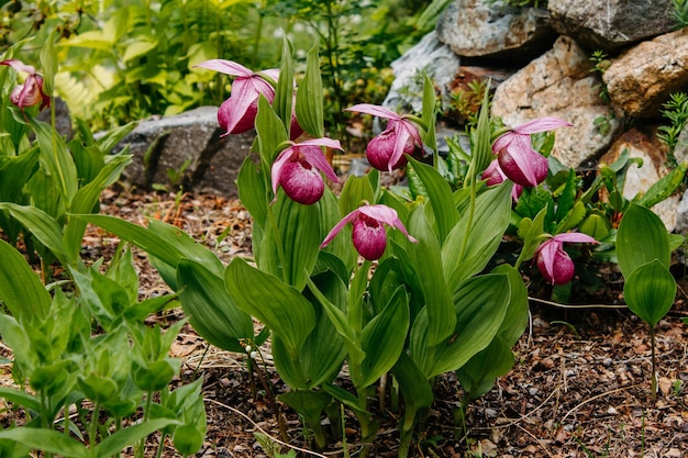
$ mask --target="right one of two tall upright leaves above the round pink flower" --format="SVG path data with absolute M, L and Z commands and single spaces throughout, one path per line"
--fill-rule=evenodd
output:
M 296 112 L 299 125 L 315 138 L 325 135 L 322 94 L 320 57 L 313 46 L 306 57 L 306 75 L 297 90 Z

